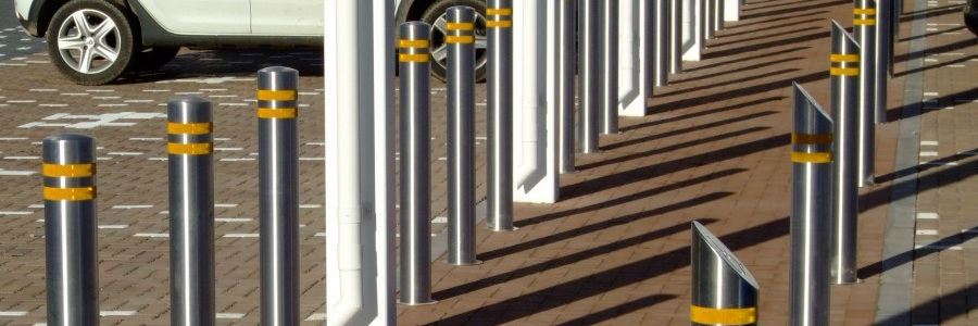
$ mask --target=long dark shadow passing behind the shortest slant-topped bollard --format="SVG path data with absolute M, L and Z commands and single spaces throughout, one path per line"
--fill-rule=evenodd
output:
M 786 216 L 722 236 L 719 239 L 727 244 L 727 248 L 737 251 L 787 236 L 789 225 L 789 217 Z M 689 230 L 688 224 L 676 227 Z M 559 285 L 523 293 L 517 298 L 482 305 L 457 315 L 447 316 L 437 322 L 437 324 L 462 325 L 477 319 L 481 323 L 498 325 L 518 321 L 538 312 L 555 309 L 584 298 L 632 286 L 649 278 L 686 268 L 690 264 L 689 251 L 690 247 L 686 246 L 603 272 L 597 272 L 589 276 L 567 279 Z M 595 281 L 601 279 L 613 279 L 613 281 Z M 497 281 L 505 281 L 505 279 L 500 277 Z M 435 297 L 436 299 L 441 299 L 437 294 Z

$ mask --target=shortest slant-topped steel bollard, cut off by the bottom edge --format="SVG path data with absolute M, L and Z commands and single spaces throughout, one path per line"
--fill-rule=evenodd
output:
M 699 222 L 692 222 L 692 325 L 757 325 L 754 276 Z

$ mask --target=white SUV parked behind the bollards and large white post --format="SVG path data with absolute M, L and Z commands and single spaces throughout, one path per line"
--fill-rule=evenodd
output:
M 82 85 L 101 85 L 128 70 L 151 70 L 180 47 L 316 48 L 323 45 L 323 3 L 331 0 L 14 0 L 17 20 L 46 37 L 58 70 Z M 444 11 L 479 12 L 477 72 L 485 76 L 485 0 L 391 0 L 396 23 L 431 24 L 432 75 L 444 79 Z

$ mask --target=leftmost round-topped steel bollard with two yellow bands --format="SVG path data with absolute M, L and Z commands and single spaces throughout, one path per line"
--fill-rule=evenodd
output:
M 48 325 L 98 325 L 95 139 L 61 134 L 42 143 Z

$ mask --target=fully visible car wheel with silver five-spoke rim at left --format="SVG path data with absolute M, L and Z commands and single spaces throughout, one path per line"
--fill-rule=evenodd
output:
M 48 54 L 78 85 L 115 80 L 129 66 L 137 40 L 128 12 L 109 1 L 75 0 L 48 25 Z

